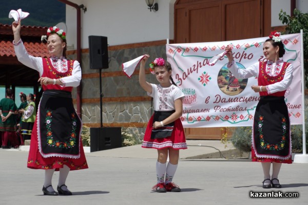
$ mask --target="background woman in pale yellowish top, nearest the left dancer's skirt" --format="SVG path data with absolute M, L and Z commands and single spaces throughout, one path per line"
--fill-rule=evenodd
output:
M 34 95 L 29 94 L 27 96 L 27 101 L 29 102 L 25 109 L 20 109 L 20 113 L 23 113 L 22 117 L 22 135 L 24 140 L 30 140 L 31 139 L 31 133 L 33 129 L 33 124 L 35 121 L 36 116 L 36 108 L 34 103 Z

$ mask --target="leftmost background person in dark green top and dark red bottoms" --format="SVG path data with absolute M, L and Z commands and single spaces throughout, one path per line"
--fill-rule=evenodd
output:
M 2 148 L 18 147 L 17 131 L 17 106 L 12 100 L 13 91 L 5 90 L 6 97 L 0 101 L 0 133 L 2 135 Z M 10 143 L 10 144 L 9 144 Z

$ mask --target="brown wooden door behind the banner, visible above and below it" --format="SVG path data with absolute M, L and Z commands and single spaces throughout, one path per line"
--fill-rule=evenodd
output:
M 258 38 L 271 30 L 270 18 L 271 0 L 177 0 L 175 43 Z M 185 128 L 186 139 L 221 139 L 226 132 L 224 127 Z

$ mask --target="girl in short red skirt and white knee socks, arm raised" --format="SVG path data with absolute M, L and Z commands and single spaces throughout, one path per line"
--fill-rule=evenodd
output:
M 179 119 L 182 116 L 184 94 L 172 80 L 171 65 L 162 58 L 157 58 L 150 64 L 150 70 L 160 84 L 148 83 L 144 71 L 148 58 L 149 55 L 144 55 L 141 61 L 139 83 L 153 98 L 155 110 L 148 122 L 142 143 L 142 147 L 155 148 L 158 151 L 157 184 L 152 189 L 160 193 L 180 192 L 181 189 L 172 183 L 172 178 L 177 170 L 179 150 L 187 148 L 184 129 Z M 166 166 L 168 155 L 169 162 Z

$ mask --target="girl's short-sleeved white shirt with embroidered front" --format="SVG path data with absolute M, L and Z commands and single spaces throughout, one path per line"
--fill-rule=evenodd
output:
M 147 92 L 153 98 L 153 106 L 156 111 L 175 110 L 175 100 L 183 98 L 185 95 L 182 90 L 171 84 L 169 87 L 151 84 L 152 93 Z

